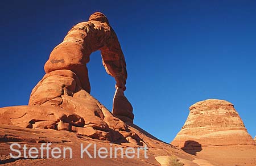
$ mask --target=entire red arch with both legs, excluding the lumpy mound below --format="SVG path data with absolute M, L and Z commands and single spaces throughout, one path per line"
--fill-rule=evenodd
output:
M 127 79 L 125 57 L 117 35 L 110 27 L 106 16 L 100 12 L 92 14 L 88 22 L 73 26 L 63 42 L 52 50 L 44 65 L 46 76 L 32 91 L 29 105 L 42 105 L 49 100 L 51 102 L 59 100 L 64 93 L 72 96 L 79 91 L 73 88 L 77 83 L 80 84 L 79 87 L 82 90 L 90 93 L 86 63 L 89 62 L 90 54 L 96 50 L 101 50 L 102 63 L 106 72 L 116 81 L 113 114 L 123 121 L 133 122 L 133 107 L 123 93 L 126 90 Z M 65 75 L 64 71 L 67 71 L 69 75 Z M 56 74 L 56 79 L 61 77 L 60 79 L 65 79 L 65 81 L 54 80 L 54 74 Z M 76 80 L 73 80 L 75 78 Z M 64 92 L 64 90 L 67 91 Z

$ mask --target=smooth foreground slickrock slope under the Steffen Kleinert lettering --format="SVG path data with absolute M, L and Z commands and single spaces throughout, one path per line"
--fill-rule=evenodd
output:
M 174 146 L 161 142 L 146 131 L 140 129 L 138 126 L 131 124 L 128 129 L 133 133 L 137 133 L 140 138 L 148 145 L 147 158 L 144 158 L 144 152 L 141 151 L 139 158 L 128 159 L 126 157 L 121 158 L 121 151 L 118 151 L 117 158 L 97 158 L 90 159 L 88 155 L 84 153 L 83 158 L 80 157 L 80 144 L 84 144 L 84 147 L 89 143 L 96 144 L 97 150 L 101 147 L 105 147 L 110 150 L 110 146 L 122 147 L 124 149 L 128 147 L 140 147 L 134 143 L 123 142 L 113 143 L 110 141 L 100 141 L 98 139 L 92 139 L 85 135 L 72 133 L 70 131 L 57 131 L 57 130 L 45 130 L 45 129 L 28 129 L 14 125 L 0 125 L 0 164 L 6 165 L 160 165 L 155 159 L 158 156 L 176 156 L 176 158 L 183 161 L 188 165 L 198 165 L 193 162 L 196 160 L 195 156 L 185 154 L 182 150 L 175 148 Z M 67 158 L 54 159 L 51 156 L 47 158 L 46 150 L 44 150 L 43 158 L 38 159 L 13 159 L 10 158 L 10 144 L 19 143 L 22 146 L 27 145 L 28 148 L 36 147 L 40 148 L 42 143 L 52 143 L 51 148 L 59 147 L 61 150 L 63 147 L 72 148 L 72 159 Z M 110 143 L 112 143 L 110 145 Z M 16 147 L 15 147 L 16 148 Z M 88 152 L 93 156 L 93 146 L 88 148 Z M 14 153 L 16 155 L 16 153 Z M 23 150 L 22 150 L 23 154 Z M 109 155 L 109 154 L 108 154 Z M 39 155 L 40 156 L 40 155 Z M 63 156 L 63 155 L 61 155 Z M 136 152 L 137 156 L 137 152 Z

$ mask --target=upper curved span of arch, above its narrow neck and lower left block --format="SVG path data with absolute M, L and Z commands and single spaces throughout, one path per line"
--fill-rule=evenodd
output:
M 90 54 L 96 50 L 101 50 L 102 63 L 106 72 L 115 78 L 116 87 L 125 91 L 125 57 L 117 35 L 106 16 L 100 12 L 91 15 L 88 22 L 72 27 L 63 42 L 52 50 L 44 70 L 46 73 L 62 69 L 72 70 L 79 77 L 84 90 L 90 93 L 86 63 L 89 62 Z

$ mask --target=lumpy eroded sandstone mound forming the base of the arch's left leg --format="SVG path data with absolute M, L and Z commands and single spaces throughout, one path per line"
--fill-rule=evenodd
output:
M 46 74 L 35 87 L 38 88 L 35 93 L 32 92 L 33 96 L 41 95 L 44 103 L 39 100 L 36 101 L 39 102 L 38 105 L 0 108 L 1 124 L 32 129 L 67 130 L 94 139 L 143 145 L 142 139 L 131 132 L 125 122 L 115 117 L 88 92 L 79 88 L 79 91 L 73 93 L 72 89 L 79 87 L 74 73 L 69 70 L 57 70 L 57 73 L 60 74 L 60 71 L 70 75 L 60 76 L 52 71 L 55 74 Z M 61 79 L 65 76 L 70 77 Z M 54 80 L 55 83 L 48 84 L 49 80 Z M 44 84 L 48 86 L 41 86 Z M 63 84 L 68 86 L 63 87 Z M 45 96 L 46 91 L 48 96 Z

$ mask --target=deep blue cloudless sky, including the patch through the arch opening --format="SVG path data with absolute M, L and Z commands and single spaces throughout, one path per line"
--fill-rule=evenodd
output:
M 256 135 L 256 1 L 1 1 L 0 107 L 26 105 L 44 63 L 76 23 L 103 12 L 127 63 L 134 122 L 171 142 L 189 106 L 234 104 Z M 112 109 L 114 79 L 90 57 L 92 95 Z

